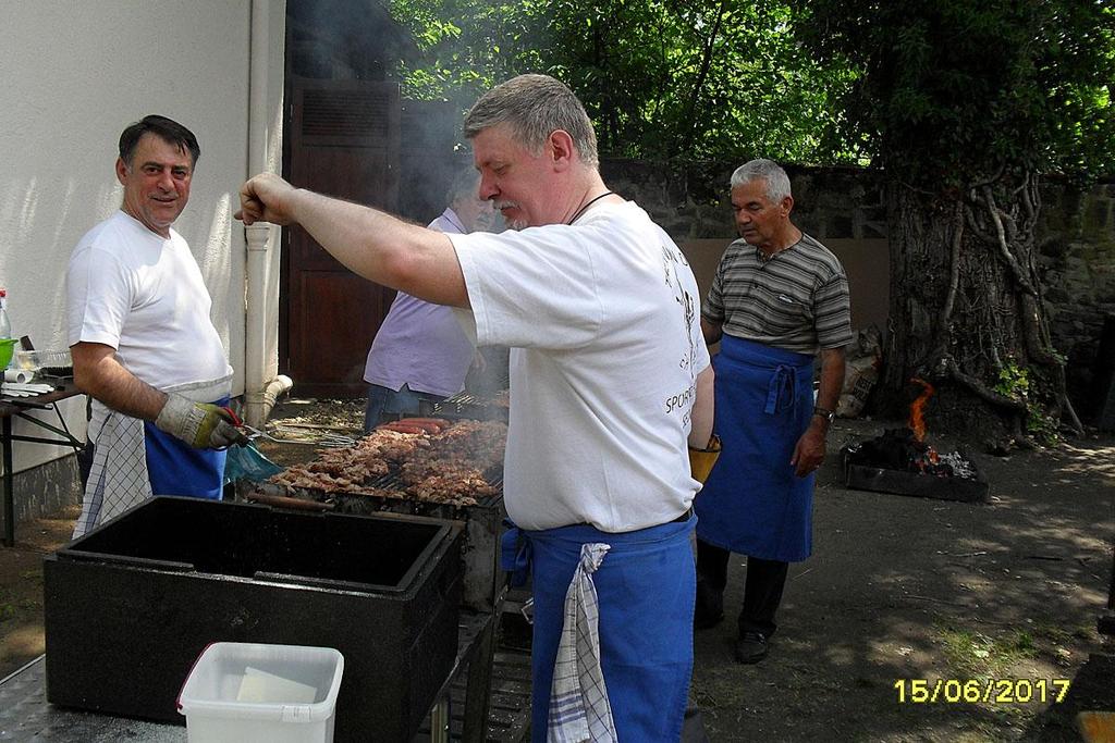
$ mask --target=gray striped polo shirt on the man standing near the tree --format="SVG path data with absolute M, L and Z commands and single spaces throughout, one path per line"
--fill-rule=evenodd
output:
M 844 266 L 805 233 L 770 258 L 741 238 L 729 245 L 701 316 L 728 335 L 798 353 L 852 341 Z

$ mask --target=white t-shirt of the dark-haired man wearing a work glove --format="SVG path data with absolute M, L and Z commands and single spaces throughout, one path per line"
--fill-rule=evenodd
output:
M 173 229 L 164 238 L 117 212 L 78 242 L 66 294 L 69 344 L 113 346 L 156 389 L 232 374 L 197 261 Z

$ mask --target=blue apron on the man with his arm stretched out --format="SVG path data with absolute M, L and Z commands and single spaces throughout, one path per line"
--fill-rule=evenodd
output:
M 546 740 L 565 593 L 581 545 L 589 542 L 611 546 L 592 579 L 600 598 L 600 666 L 619 740 L 680 740 L 694 664 L 694 521 L 622 534 L 576 525 L 504 535 L 504 569 L 526 568 L 532 580 L 532 740 Z

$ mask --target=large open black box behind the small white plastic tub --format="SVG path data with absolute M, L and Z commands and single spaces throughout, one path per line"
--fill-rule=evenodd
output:
M 183 723 L 219 641 L 334 647 L 334 739 L 408 741 L 457 653 L 462 527 L 155 498 L 46 558 L 47 701 Z

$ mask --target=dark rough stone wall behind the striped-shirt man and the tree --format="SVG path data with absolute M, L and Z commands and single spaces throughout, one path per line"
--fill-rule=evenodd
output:
M 728 182 L 734 165 L 665 166 L 644 162 L 605 160 L 604 180 L 633 198 L 683 243 L 735 236 Z M 863 241 L 886 237 L 883 180 L 878 172 L 856 168 L 787 167 L 794 186 L 796 224 L 825 239 Z M 1096 380 L 1106 363 L 1097 358 L 1105 317 L 1115 315 L 1115 183 L 1082 192 L 1067 183 L 1041 187 L 1038 262 L 1045 283 L 1054 345 L 1068 358 L 1069 389 L 1080 416 L 1102 394 Z M 875 250 L 860 271 L 861 285 L 886 285 L 888 256 Z M 850 268 L 850 274 L 851 274 Z M 850 276 L 851 277 L 851 276 Z M 855 277 L 852 277 L 855 280 Z

